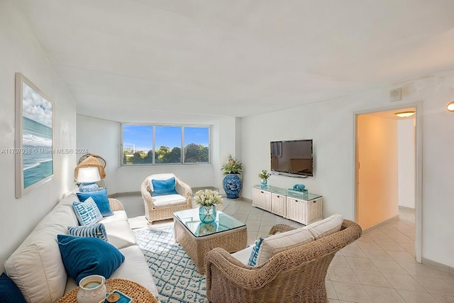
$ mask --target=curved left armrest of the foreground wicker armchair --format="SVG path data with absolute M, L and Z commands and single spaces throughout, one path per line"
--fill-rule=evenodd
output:
M 205 255 L 206 288 L 211 290 L 211 267 L 222 272 L 229 285 L 236 285 L 249 290 L 259 290 L 275 279 L 278 272 L 268 263 L 262 266 L 248 266 L 233 258 L 223 248 L 214 248 Z

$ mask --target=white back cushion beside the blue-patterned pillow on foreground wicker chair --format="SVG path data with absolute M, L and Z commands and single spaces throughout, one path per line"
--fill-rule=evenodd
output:
M 258 250 L 256 264 L 262 265 L 277 253 L 311 241 L 314 241 L 314 236 L 302 228 L 284 233 L 276 233 L 275 235 L 264 238 Z

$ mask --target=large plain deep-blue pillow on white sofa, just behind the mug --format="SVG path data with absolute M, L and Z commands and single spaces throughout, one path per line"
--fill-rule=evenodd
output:
M 57 235 L 57 240 L 63 265 L 77 285 L 89 275 L 102 275 L 109 279 L 125 260 L 120 250 L 99 238 Z

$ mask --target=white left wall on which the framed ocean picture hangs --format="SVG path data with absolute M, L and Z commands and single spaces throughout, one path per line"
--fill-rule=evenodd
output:
M 76 108 L 65 84 L 55 75 L 38 45 L 16 0 L 0 2 L 0 149 L 14 148 L 14 73 L 21 72 L 54 102 L 54 148 L 74 149 Z M 73 154 L 54 155 L 54 177 L 41 187 L 16 199 L 14 155 L 0 153 L 0 272 L 38 221 L 62 194 L 72 189 Z

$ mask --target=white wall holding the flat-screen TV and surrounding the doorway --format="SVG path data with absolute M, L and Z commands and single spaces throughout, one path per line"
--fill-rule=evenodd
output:
M 402 101 L 389 102 L 389 90 L 402 87 Z M 270 141 L 314 139 L 314 177 L 297 179 L 272 175 L 269 184 L 290 187 L 306 184 L 323 195 L 323 216 L 343 214 L 355 219 L 354 114 L 382 111 L 390 106 L 408 107 L 421 102 L 423 144 L 423 249 L 422 257 L 454 266 L 450 218 L 454 213 L 454 114 L 446 111 L 454 99 L 454 72 L 443 72 L 416 81 L 373 89 L 360 94 L 321 101 L 270 114 L 248 116 L 242 121 L 241 157 L 243 197 L 252 198 L 260 170 L 270 170 Z

